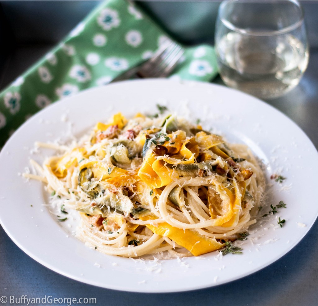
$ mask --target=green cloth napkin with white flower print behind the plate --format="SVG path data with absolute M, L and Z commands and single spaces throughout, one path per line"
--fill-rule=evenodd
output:
M 149 59 L 167 38 L 134 3 L 101 3 L 58 46 L 0 93 L 0 147 L 32 114 L 83 89 L 110 83 Z M 210 81 L 216 76 L 212 46 L 184 49 L 170 78 Z

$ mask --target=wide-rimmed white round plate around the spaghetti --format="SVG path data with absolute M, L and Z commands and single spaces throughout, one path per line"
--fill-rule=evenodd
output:
M 266 164 L 271 185 L 267 205 L 287 203 L 262 218 L 258 233 L 238 241 L 243 254 L 213 252 L 182 260 L 135 261 L 101 254 L 72 236 L 75 228 L 56 221 L 43 185 L 19 176 L 35 141 L 80 135 L 115 112 L 126 116 L 154 113 L 156 104 L 214 128 L 229 141 L 245 143 Z M 313 225 L 318 212 L 315 188 L 318 155 L 307 136 L 285 115 L 251 96 L 223 86 L 168 80 L 127 81 L 94 88 L 45 108 L 10 138 L 0 153 L 0 221 L 10 238 L 49 269 L 88 284 L 133 292 L 175 292 L 210 287 L 249 275 L 293 248 Z M 287 179 L 278 184 L 270 175 Z M 31 207 L 32 205 L 32 207 Z M 264 213 L 269 208 L 264 210 Z M 276 216 L 285 219 L 280 228 Z

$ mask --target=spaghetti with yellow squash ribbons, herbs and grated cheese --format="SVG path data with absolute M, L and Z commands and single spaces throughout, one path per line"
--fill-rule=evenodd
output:
M 56 148 L 25 176 L 42 180 L 62 213 L 78 211 L 76 236 L 100 252 L 198 256 L 256 222 L 265 180 L 252 152 L 185 119 L 117 113 Z

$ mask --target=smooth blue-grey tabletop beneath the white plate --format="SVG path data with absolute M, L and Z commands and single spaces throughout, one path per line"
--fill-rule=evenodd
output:
M 47 46 L 34 48 L 37 52 L 34 52 L 32 47 L 17 50 L 6 69 L 6 75 L 2 75 L 2 78 L 12 80 L 48 49 Z M 214 82 L 222 84 L 220 78 L 216 78 Z M 308 69 L 300 84 L 284 97 L 267 103 L 291 118 L 318 148 L 318 49 L 311 49 Z M 277 128 L 284 127 L 277 124 Z M 313 205 L 318 205 L 317 202 Z M 314 306 L 318 305 L 318 222 L 315 222 L 305 238 L 289 253 L 252 275 L 213 288 L 168 294 L 140 294 L 102 289 L 59 275 L 26 255 L 0 226 L 0 297 L 18 298 L 24 295 L 40 298 L 94 297 L 97 300 L 96 305 L 103 306 Z M 15 304 L 7 302 L 5 305 Z

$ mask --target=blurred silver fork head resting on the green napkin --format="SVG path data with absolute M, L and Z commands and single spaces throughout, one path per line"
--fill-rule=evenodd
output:
M 152 58 L 139 67 L 136 74 L 140 78 L 165 78 L 174 70 L 183 53 L 180 45 L 166 40 Z

